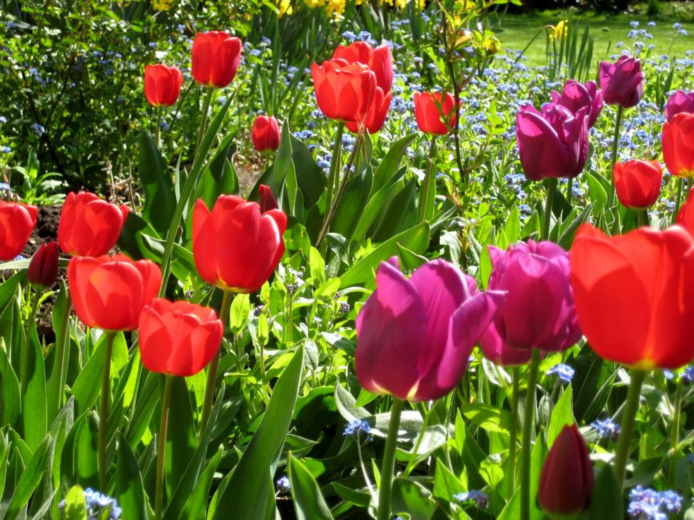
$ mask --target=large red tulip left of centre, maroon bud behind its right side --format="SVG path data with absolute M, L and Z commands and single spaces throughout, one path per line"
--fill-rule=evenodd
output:
M 253 293 L 264 284 L 285 252 L 287 216 L 279 209 L 261 213 L 257 202 L 221 195 L 208 210 L 193 209 L 193 258 L 208 283 L 235 293 Z

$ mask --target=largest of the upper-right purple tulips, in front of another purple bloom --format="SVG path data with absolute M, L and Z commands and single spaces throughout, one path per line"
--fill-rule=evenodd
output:
M 516 115 L 516 141 L 521 166 L 530 180 L 545 177 L 573 179 L 588 158 L 588 107 L 573 114 L 568 108 L 545 103 L 542 112 L 523 105 Z

